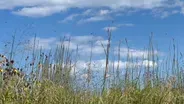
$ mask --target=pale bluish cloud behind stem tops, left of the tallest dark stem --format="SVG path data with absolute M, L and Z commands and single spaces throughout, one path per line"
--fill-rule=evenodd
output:
M 70 41 L 69 41 L 70 39 Z M 101 36 L 92 36 L 92 35 L 85 35 L 85 36 L 66 36 L 66 39 L 63 42 L 60 42 L 55 37 L 50 38 L 31 38 L 29 48 L 33 48 L 34 43 L 36 44 L 36 49 L 52 49 L 57 45 L 64 44 L 65 46 L 69 46 L 71 51 L 75 51 L 78 48 L 78 51 L 81 55 L 89 55 L 91 52 L 91 48 L 93 49 L 93 54 L 104 54 L 104 49 L 101 46 L 101 43 L 104 46 L 107 44 L 107 40 L 102 38 Z M 93 44 L 93 46 L 91 45 Z

